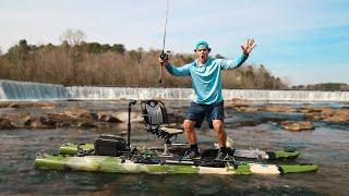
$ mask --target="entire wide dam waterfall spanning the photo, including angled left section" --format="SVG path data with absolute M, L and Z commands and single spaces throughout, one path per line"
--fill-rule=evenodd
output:
M 225 100 L 233 98 L 263 102 L 349 102 L 349 91 L 224 89 Z M 70 86 L 0 81 L 0 100 L 122 100 L 194 99 L 191 88 L 136 88 Z

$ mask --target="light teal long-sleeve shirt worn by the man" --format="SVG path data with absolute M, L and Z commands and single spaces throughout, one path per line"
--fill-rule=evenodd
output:
M 180 68 L 168 64 L 166 69 L 174 76 L 191 76 L 195 91 L 194 102 L 210 105 L 224 100 L 221 95 L 221 70 L 237 69 L 246 59 L 248 56 L 245 54 L 234 60 L 208 58 L 204 65 L 198 65 L 197 60 L 195 60 Z

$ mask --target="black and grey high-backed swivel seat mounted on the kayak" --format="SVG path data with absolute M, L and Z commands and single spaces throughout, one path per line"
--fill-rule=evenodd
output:
M 184 132 L 182 125 L 169 124 L 166 107 L 160 100 L 143 100 L 141 109 L 146 131 L 165 140 L 164 154 L 167 154 L 171 139 Z

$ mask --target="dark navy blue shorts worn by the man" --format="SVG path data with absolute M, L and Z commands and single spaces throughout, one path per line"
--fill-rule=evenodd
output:
M 195 121 L 195 127 L 201 127 L 206 119 L 208 126 L 213 128 L 213 120 L 225 121 L 224 101 L 212 105 L 191 102 L 186 111 L 186 120 Z

